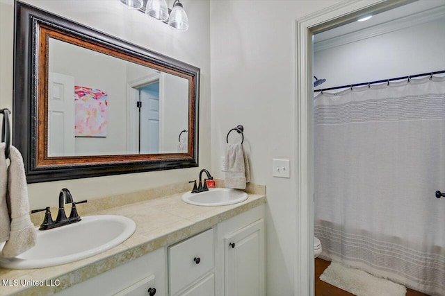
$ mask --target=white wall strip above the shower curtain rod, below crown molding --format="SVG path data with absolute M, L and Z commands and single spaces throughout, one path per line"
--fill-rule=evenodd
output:
M 317 78 L 326 78 L 326 82 L 317 88 L 445 70 L 444 28 L 445 16 L 316 51 L 314 73 Z

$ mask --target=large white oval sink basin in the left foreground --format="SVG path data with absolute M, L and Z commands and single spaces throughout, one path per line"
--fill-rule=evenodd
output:
M 14 258 L 0 256 L 2 268 L 44 268 L 87 258 L 119 245 L 133 234 L 136 223 L 123 216 L 85 216 L 77 223 L 37 230 L 37 242 Z M 0 244 L 0 250 L 4 243 Z

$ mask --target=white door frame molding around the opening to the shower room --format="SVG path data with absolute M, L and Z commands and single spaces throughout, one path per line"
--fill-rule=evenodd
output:
M 346 24 L 366 12 L 389 10 L 411 0 L 342 1 L 301 19 L 296 19 L 296 126 L 292 189 L 296 196 L 296 257 L 294 295 L 314 295 L 314 132 L 313 44 L 315 33 Z

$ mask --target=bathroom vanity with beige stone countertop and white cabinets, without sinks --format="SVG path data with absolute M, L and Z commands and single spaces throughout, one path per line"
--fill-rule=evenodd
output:
M 2 281 L 45 283 L 3 285 L 1 295 L 265 295 L 264 191 L 222 207 L 186 204 L 181 195 L 96 212 L 127 216 L 136 232 L 73 263 L 0 269 Z

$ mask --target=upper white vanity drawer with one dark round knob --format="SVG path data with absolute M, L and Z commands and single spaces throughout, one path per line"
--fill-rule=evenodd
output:
M 213 269 L 213 229 L 168 247 L 170 295 Z

